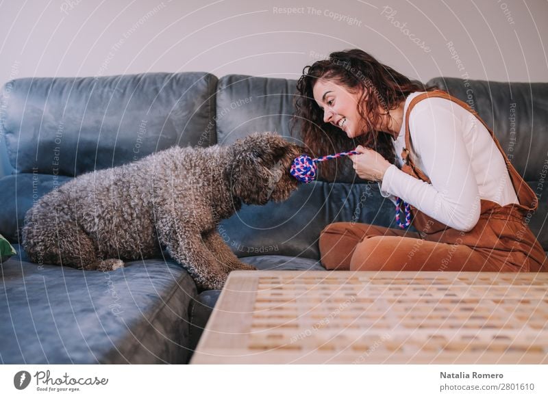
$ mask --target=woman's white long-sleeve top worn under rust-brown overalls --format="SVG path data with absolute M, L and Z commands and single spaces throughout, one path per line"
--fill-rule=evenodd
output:
M 519 203 L 501 152 L 484 125 L 469 111 L 445 98 L 426 98 L 409 116 L 410 156 L 431 184 L 399 170 L 406 146 L 406 98 L 403 122 L 396 140 L 396 165 L 390 165 L 381 193 L 399 196 L 426 215 L 457 230 L 469 231 L 479 220 L 480 199 L 501 206 Z

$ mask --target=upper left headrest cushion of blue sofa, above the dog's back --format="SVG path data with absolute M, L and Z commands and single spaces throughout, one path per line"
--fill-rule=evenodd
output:
M 66 176 L 208 146 L 216 82 L 204 72 L 16 79 L 1 94 L 0 136 L 16 172 Z

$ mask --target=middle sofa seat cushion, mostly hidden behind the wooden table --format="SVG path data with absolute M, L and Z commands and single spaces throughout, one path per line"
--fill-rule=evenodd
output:
M 317 260 L 312 258 L 292 256 L 251 256 L 240 258 L 241 261 L 254 265 L 262 271 L 289 271 L 289 270 L 325 270 Z M 198 341 L 206 328 L 206 323 L 221 294 L 220 290 L 202 291 L 190 304 L 190 349 L 194 351 Z

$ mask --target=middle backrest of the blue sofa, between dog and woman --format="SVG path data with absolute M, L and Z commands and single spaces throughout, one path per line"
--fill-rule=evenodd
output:
M 219 144 L 231 144 L 254 131 L 276 131 L 303 144 L 298 130 L 290 130 L 296 88 L 297 81 L 290 79 L 221 77 L 216 93 Z M 353 170 L 345 167 L 347 159 L 335 161 L 334 181 L 301 184 L 286 202 L 242 207 L 221 224 L 223 239 L 238 256 L 280 254 L 319 259 L 318 238 L 331 222 L 395 226 L 394 206 L 380 196 L 377 184 L 356 178 Z

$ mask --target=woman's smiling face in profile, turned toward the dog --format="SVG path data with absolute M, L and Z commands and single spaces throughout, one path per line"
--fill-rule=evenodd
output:
M 364 133 L 358 112 L 360 94 L 349 92 L 342 85 L 319 79 L 312 90 L 314 101 L 323 110 L 323 121 L 343 130 L 349 138 Z

